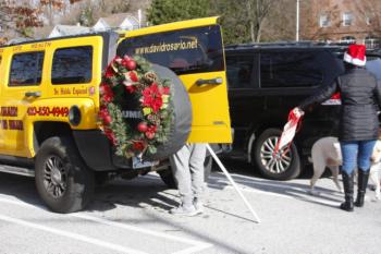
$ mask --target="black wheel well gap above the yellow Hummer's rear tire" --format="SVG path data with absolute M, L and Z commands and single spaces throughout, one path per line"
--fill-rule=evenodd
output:
M 35 122 L 34 146 L 36 152 L 44 141 L 52 136 L 72 136 L 72 129 L 64 122 Z

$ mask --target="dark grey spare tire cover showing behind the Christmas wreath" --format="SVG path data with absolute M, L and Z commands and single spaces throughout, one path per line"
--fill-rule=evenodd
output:
M 176 153 L 185 145 L 192 125 L 192 104 L 183 82 L 168 68 L 152 64 L 152 69 L 160 80 L 171 81 L 173 120 L 170 125 L 168 141 L 157 147 L 158 152 L 156 154 L 145 155 L 143 158 L 145 160 L 160 160 Z

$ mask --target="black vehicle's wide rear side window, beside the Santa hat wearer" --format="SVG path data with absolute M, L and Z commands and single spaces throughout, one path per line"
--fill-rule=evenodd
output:
M 261 87 L 306 87 L 320 85 L 322 81 L 319 52 L 260 55 Z

